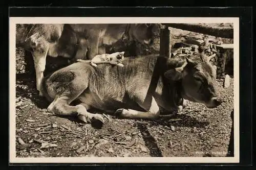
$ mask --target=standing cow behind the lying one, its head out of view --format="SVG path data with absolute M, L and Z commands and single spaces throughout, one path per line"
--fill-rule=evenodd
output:
M 151 45 L 152 31 L 157 24 L 17 24 L 16 46 L 22 46 L 33 55 L 36 71 L 36 88 L 39 95 L 44 77 L 46 56 L 72 59 L 92 59 L 105 53 L 124 35 L 131 40 Z M 159 37 L 158 37 L 159 38 Z

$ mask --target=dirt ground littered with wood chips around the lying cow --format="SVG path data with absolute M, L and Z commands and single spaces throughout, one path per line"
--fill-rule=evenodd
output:
M 17 53 L 17 68 L 24 69 L 24 51 L 17 48 Z M 233 79 L 227 89 L 223 88 L 223 80 L 218 80 L 224 102 L 217 108 L 188 102 L 181 113 L 154 121 L 105 115 L 105 124 L 97 129 L 76 117 L 47 113 L 49 103 L 39 98 L 34 75 L 24 73 L 23 69 L 18 69 L 16 74 L 17 157 L 226 155 L 233 110 Z M 19 138 L 26 144 L 20 144 Z

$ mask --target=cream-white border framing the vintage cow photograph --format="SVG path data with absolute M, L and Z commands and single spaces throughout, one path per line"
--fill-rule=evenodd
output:
M 234 157 L 16 157 L 17 23 L 233 23 Z M 239 163 L 239 17 L 9 17 L 9 163 Z

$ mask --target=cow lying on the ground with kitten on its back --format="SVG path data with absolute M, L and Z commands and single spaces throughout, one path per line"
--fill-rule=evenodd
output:
M 165 58 L 156 55 L 125 58 L 124 67 L 74 63 L 42 81 L 41 91 L 52 102 L 49 112 L 77 115 L 84 122 L 103 122 L 91 108 L 125 118 L 156 118 L 160 108 L 182 108 L 183 99 L 217 107 L 215 68 L 210 57 Z M 79 104 L 71 106 L 71 102 Z

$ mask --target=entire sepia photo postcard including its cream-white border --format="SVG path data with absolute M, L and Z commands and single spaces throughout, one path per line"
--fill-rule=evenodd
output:
M 238 26 L 11 17 L 10 160 L 239 162 Z

